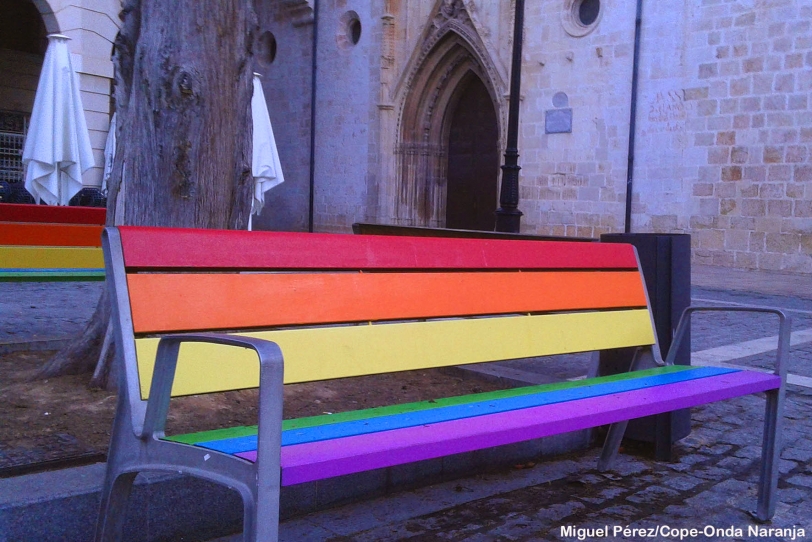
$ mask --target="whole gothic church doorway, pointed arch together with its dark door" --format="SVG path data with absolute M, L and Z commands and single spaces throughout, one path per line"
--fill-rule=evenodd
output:
M 472 45 L 474 38 L 446 31 L 430 40 L 425 57 L 404 83 L 395 150 L 398 224 L 493 230 L 498 158 L 492 163 L 487 156 L 495 156 L 499 148 L 499 93 L 490 64 Z M 485 156 L 469 167 L 475 154 Z M 481 178 L 471 180 L 472 171 Z

